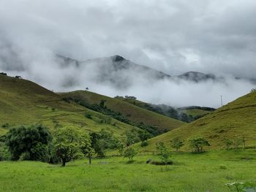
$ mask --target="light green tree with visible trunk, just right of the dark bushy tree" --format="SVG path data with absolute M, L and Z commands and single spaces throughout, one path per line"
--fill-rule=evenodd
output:
M 57 128 L 54 136 L 54 149 L 56 155 L 61 159 L 62 166 L 72 159 L 78 158 L 80 154 L 85 153 L 86 149 L 91 147 L 89 135 L 78 128 Z

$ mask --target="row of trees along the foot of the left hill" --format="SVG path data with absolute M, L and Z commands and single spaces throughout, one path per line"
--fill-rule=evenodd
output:
M 126 139 L 119 140 L 105 129 L 87 134 L 75 127 L 60 126 L 50 132 L 41 124 L 18 126 L 0 137 L 0 161 L 61 162 L 65 166 L 69 161 L 87 157 L 91 164 L 93 157 L 105 157 L 107 150 L 118 150 L 123 155 L 130 145 L 145 145 L 148 138 L 148 132 L 135 128 L 127 131 Z

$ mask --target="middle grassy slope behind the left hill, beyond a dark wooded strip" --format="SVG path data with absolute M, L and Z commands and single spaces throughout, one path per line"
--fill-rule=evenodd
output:
M 105 106 L 110 110 L 115 112 L 120 112 L 125 118 L 140 123 L 143 122 L 146 125 L 157 126 L 161 130 L 172 130 L 173 128 L 178 128 L 185 123 L 168 118 L 164 115 L 160 115 L 156 112 L 150 110 L 145 110 L 134 104 L 129 104 L 120 99 L 113 99 L 108 96 L 102 96 L 97 93 L 92 93 L 90 91 L 72 91 L 70 93 L 60 93 L 63 97 L 70 97 L 74 99 L 79 99 L 88 104 L 99 104 L 102 100 L 105 100 Z

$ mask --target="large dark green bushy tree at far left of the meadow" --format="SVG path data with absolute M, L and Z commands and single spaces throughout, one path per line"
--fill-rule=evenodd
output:
M 52 137 L 48 128 L 42 125 L 19 126 L 11 128 L 5 139 L 12 154 L 12 160 L 18 160 L 26 153 L 26 160 L 48 161 L 48 145 Z

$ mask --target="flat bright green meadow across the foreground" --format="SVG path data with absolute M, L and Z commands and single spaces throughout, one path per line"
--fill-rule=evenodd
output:
M 230 191 L 225 183 L 256 182 L 256 151 L 174 153 L 172 166 L 146 164 L 141 155 L 74 161 L 66 167 L 0 162 L 0 191 Z

